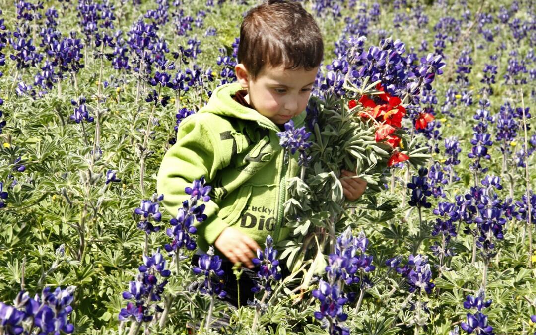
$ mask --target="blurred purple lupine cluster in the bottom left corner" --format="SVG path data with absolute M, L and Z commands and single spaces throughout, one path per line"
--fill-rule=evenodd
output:
M 39 334 L 72 333 L 75 326 L 67 317 L 72 311 L 75 289 L 76 286 L 69 286 L 50 291 L 50 287 L 45 287 L 41 296 L 36 294 L 33 299 L 28 292 L 21 291 L 13 306 L 0 302 L 0 330 L 5 334 L 33 334 L 37 327 Z

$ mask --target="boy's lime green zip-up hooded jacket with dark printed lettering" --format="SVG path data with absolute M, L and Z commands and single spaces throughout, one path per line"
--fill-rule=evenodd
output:
M 166 152 L 157 177 L 163 205 L 174 217 L 190 196 L 184 188 L 205 176 L 212 186 L 208 219 L 196 222 L 198 247 L 206 251 L 226 227 L 247 234 L 259 245 L 267 235 L 285 239 L 281 227 L 288 199 L 286 181 L 297 176 L 298 153 L 279 145 L 278 125 L 233 100 L 240 84 L 218 87 L 206 106 L 178 126 L 177 142 Z M 304 123 L 303 111 L 293 118 Z M 221 255 L 221 254 L 220 254 Z

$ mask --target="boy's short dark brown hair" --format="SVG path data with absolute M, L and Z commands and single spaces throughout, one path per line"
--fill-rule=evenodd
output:
M 320 29 L 299 3 L 268 0 L 242 21 L 237 56 L 252 79 L 265 65 L 310 71 L 320 65 L 323 54 Z

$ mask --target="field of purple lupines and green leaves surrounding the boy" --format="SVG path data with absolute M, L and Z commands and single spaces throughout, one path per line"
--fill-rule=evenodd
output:
M 169 213 L 156 180 L 260 2 L 0 0 L 0 335 L 536 334 L 536 3 L 300 2 L 324 61 L 278 133 L 292 234 L 232 310 L 217 252 L 190 265 L 215 185 Z

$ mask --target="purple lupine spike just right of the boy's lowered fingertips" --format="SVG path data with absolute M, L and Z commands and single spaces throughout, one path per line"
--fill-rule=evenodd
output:
M 279 260 L 277 257 L 277 250 L 273 247 L 272 236 L 266 237 L 265 249 L 257 249 L 257 257 L 252 259 L 253 264 L 259 266 L 257 277 L 259 282 L 256 282 L 256 286 L 251 288 L 252 292 L 259 292 L 262 289 L 267 294 L 272 292 L 272 282 L 281 280 L 281 273 L 278 271 Z

